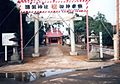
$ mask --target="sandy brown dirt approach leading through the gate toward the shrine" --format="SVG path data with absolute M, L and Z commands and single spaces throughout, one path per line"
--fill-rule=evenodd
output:
M 40 47 L 40 57 L 32 58 L 33 47 L 25 50 L 25 63 L 0 67 L 0 72 L 34 72 L 45 69 L 92 69 L 114 64 L 114 61 L 88 62 L 86 55 L 69 56 L 69 46 Z M 78 48 L 78 51 L 82 51 Z M 84 52 L 84 51 L 82 51 Z

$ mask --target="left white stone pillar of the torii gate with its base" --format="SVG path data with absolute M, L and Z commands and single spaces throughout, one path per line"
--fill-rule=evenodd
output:
M 39 14 L 35 14 L 35 40 L 33 57 L 39 57 Z

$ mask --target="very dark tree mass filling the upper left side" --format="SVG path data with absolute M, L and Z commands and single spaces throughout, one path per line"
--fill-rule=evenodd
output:
M 25 45 L 28 39 L 32 36 L 30 32 L 31 29 L 29 29 L 26 22 L 26 14 L 23 14 L 22 23 L 23 42 Z M 17 33 L 20 45 L 20 13 L 16 4 L 11 0 L 0 0 L 0 52 L 4 52 L 4 47 L 2 46 L 2 33 Z M 12 48 L 10 50 L 12 50 Z

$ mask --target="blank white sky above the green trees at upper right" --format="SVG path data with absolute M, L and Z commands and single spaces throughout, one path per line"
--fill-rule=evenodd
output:
M 17 2 L 17 0 L 13 0 Z M 91 0 L 89 2 L 89 15 L 95 16 L 98 11 L 105 15 L 108 22 L 116 24 L 116 0 Z

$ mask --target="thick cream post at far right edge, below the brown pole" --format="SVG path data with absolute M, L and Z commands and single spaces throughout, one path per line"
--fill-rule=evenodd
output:
M 119 36 L 115 34 L 113 37 L 114 40 L 114 60 L 119 60 Z

